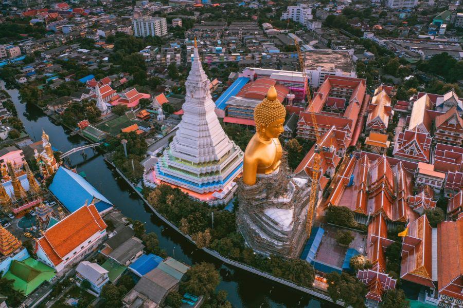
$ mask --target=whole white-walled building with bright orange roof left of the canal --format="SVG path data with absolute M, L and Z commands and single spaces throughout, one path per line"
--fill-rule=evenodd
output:
M 35 254 L 60 275 L 94 252 L 105 236 L 106 224 L 95 205 L 83 205 L 43 233 L 35 242 Z

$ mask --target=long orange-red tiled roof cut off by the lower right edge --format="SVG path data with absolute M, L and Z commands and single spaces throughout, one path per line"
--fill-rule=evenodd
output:
M 437 225 L 437 287 L 463 300 L 463 218 Z

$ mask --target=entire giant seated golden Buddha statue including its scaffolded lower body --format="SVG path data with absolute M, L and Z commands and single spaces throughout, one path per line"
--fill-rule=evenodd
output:
M 278 137 L 286 109 L 270 87 L 254 109 L 256 133 L 244 151 L 237 227 L 248 246 L 263 255 L 298 258 L 305 244 L 307 179 L 289 173 Z

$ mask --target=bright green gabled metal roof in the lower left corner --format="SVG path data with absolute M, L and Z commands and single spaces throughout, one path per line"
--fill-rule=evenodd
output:
M 55 276 L 55 269 L 40 261 L 27 258 L 24 261 L 11 261 L 10 269 L 4 277 L 14 280 L 14 290 L 21 291 L 27 296 L 44 281 L 50 281 Z

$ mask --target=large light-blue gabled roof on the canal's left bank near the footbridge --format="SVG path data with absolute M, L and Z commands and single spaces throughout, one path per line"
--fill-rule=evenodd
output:
M 106 199 L 90 183 L 75 172 L 60 167 L 56 171 L 49 190 L 60 200 L 70 213 L 74 213 L 82 207 L 85 202 L 95 204 L 101 213 L 113 206 L 111 201 Z

